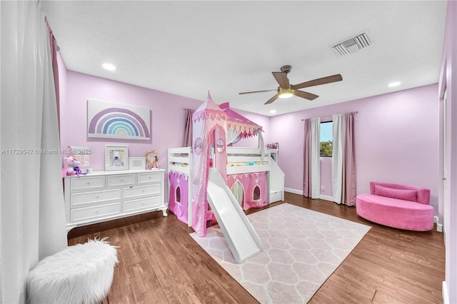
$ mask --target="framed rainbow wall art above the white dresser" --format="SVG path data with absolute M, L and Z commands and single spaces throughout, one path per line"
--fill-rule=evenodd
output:
M 87 137 L 151 139 L 151 110 L 105 101 L 87 101 Z

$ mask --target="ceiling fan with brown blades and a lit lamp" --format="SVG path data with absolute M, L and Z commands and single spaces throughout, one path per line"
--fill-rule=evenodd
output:
M 317 96 L 313 93 L 300 91 L 299 89 L 308 88 L 309 86 L 319 86 L 321 84 L 332 83 L 332 82 L 343 80 L 343 77 L 341 77 L 340 74 L 336 74 L 336 75 L 332 75 L 332 76 L 326 76 L 323 78 L 317 78 L 314 80 L 305 81 L 302 83 L 291 85 L 291 83 L 288 82 L 288 78 L 287 78 L 287 74 L 291 71 L 291 69 L 292 69 L 292 66 L 281 66 L 280 72 L 271 72 L 271 74 L 273 74 L 273 77 L 279 83 L 277 90 L 251 91 L 251 92 L 242 92 L 239 94 L 243 95 L 243 94 L 250 94 L 250 93 L 278 91 L 278 93 L 275 96 L 268 99 L 268 101 L 266 101 L 265 104 L 272 103 L 273 101 L 276 101 L 277 98 L 289 98 L 292 96 L 298 96 L 298 97 L 305 98 L 305 99 L 312 101 L 313 99 L 316 99 L 319 96 Z

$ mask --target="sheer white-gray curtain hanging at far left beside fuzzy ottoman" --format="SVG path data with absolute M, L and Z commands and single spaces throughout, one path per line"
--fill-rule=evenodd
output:
M 29 270 L 67 245 L 61 156 L 42 152 L 59 151 L 59 123 L 41 3 L 0 7 L 0 303 L 25 303 Z

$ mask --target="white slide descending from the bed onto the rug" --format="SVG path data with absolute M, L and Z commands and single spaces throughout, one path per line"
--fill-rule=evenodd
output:
M 263 250 L 256 230 L 216 168 L 209 169 L 208 202 L 237 263 Z

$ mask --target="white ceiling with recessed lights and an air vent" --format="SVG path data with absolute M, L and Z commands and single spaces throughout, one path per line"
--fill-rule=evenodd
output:
M 438 82 L 446 1 L 42 1 L 67 69 L 272 116 Z M 332 46 L 368 31 L 345 57 Z M 114 72 L 101 64 L 116 65 Z M 271 75 L 341 74 L 263 105 Z M 388 83 L 401 81 L 396 88 Z

